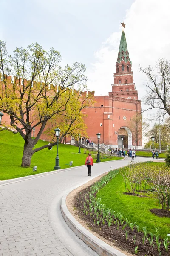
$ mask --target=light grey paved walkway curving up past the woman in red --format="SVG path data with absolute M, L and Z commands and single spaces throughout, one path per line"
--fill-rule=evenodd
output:
M 136 158 L 146 161 L 148 158 Z M 0 186 L 0 256 L 96 256 L 67 226 L 60 212 L 62 196 L 126 160 L 87 167 Z M 112 167 L 111 167 L 112 166 Z

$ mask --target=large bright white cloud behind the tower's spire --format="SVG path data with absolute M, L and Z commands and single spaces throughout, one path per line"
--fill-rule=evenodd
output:
M 132 61 L 133 78 L 139 99 L 144 95 L 145 76 L 139 72 L 139 65 L 155 65 L 159 58 L 170 59 L 170 1 L 136 0 L 127 10 L 125 35 Z M 118 26 L 120 24 L 118 23 Z M 120 25 L 121 26 L 121 25 Z M 88 70 L 88 88 L 95 95 L 108 95 L 113 84 L 113 73 L 119 50 L 122 29 L 114 32 L 94 53 L 96 62 Z

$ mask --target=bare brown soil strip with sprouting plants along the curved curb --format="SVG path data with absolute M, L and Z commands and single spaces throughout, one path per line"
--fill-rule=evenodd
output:
M 98 226 L 97 224 L 94 224 L 93 216 L 91 217 L 90 215 L 85 215 L 83 213 L 83 207 L 81 204 L 81 198 L 83 194 L 86 194 L 87 190 L 89 189 L 89 186 L 91 186 L 94 182 L 99 180 L 102 176 L 103 175 L 100 175 L 94 180 L 91 180 L 85 185 L 72 191 L 66 199 L 68 210 L 71 212 L 74 218 L 76 218 L 77 221 L 82 226 L 87 228 L 91 233 L 94 233 L 95 236 L 99 237 L 100 239 L 102 239 L 109 245 L 115 247 L 116 249 L 122 251 L 126 255 L 135 255 L 134 250 L 135 247 L 138 246 L 138 256 L 159 256 L 160 254 L 158 253 L 156 243 L 154 243 L 154 247 L 150 246 L 149 241 L 146 239 L 144 244 L 142 244 L 143 233 L 137 232 L 137 230 L 135 229 L 131 231 L 131 229 L 128 227 L 125 227 L 125 229 L 122 230 L 121 225 L 119 225 L 119 229 L 117 225 L 113 224 L 111 225 L 111 227 L 108 227 L 106 221 L 105 225 L 99 224 Z M 81 195 L 79 194 L 80 192 Z M 128 232 L 127 241 L 125 237 L 126 231 Z M 161 243 L 160 251 L 161 256 L 170 256 L 169 253 L 166 253 L 163 242 Z

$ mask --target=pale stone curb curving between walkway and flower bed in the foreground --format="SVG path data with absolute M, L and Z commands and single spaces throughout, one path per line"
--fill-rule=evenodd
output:
M 71 230 L 92 250 L 98 253 L 100 256 L 126 256 L 124 253 L 121 253 L 119 250 L 111 247 L 106 244 L 101 239 L 94 236 L 90 231 L 86 230 L 85 227 L 82 227 L 81 224 L 71 215 L 66 206 L 66 197 L 68 194 L 65 194 L 61 200 L 61 213 L 65 222 L 71 228 Z

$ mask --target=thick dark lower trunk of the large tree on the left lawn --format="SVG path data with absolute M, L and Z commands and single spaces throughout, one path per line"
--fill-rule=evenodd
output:
M 32 143 L 26 143 L 24 144 L 24 150 L 23 150 L 23 158 L 22 158 L 22 167 L 29 167 L 31 164 L 31 158 L 33 155 L 33 148 L 34 145 Z

